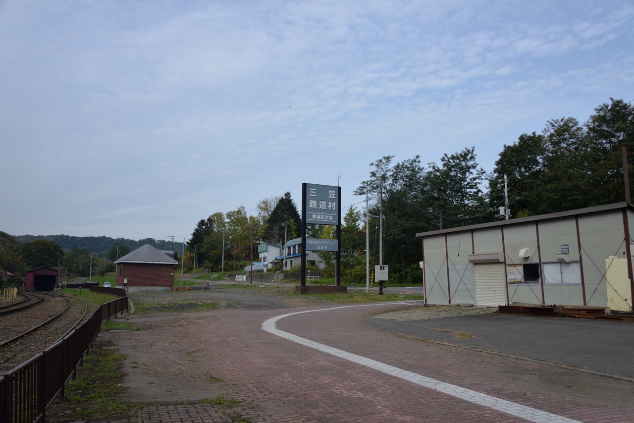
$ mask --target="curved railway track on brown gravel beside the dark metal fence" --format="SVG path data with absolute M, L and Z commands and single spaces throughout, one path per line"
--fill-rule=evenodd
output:
M 82 299 L 42 292 L 36 296 L 41 297 L 39 305 L 0 315 L 0 373 L 48 348 L 86 316 L 88 304 Z M 34 320 L 29 323 L 29 318 Z

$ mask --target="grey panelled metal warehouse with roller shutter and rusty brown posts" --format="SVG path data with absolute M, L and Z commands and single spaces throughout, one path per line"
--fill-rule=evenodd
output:
M 418 233 L 425 298 L 631 312 L 632 226 L 634 207 L 623 202 Z

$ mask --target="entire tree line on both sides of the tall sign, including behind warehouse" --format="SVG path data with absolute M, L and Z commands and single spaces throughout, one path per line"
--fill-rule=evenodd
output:
M 634 107 L 610 99 L 595 108 L 583 123 L 573 117 L 548 120 L 538 133 L 521 134 L 504 145 L 495 167 L 486 172 L 477 162 L 474 147 L 444 154 L 439 162 L 424 166 L 420 156 L 394 163 L 387 155 L 370 164 L 370 178 L 354 190 L 370 196 L 370 215 L 378 215 L 379 181 L 383 193 L 384 263 L 396 283 L 419 283 L 422 275 L 418 232 L 474 225 L 501 219 L 504 175 L 508 178 L 510 216 L 566 211 L 623 201 L 624 181 L 621 144 L 634 152 Z M 631 166 L 631 165 L 628 165 Z M 630 169 L 630 175 L 634 174 Z M 632 181 L 630 181 L 630 184 Z M 369 231 L 372 264 L 378 264 L 378 219 L 366 228 L 365 213 L 350 206 L 342 223 L 342 280 L 365 280 L 365 234 Z M 257 203 L 258 216 L 247 216 L 244 207 L 226 214 L 215 213 L 198 222 L 186 252 L 186 263 L 219 270 L 222 234 L 225 263 L 247 265 L 250 250 L 259 242 L 283 243 L 299 236 L 301 219 L 290 193 L 264 198 Z M 442 224 L 441 224 L 442 221 Z M 253 230 L 253 243 L 251 243 Z M 308 235 L 333 238 L 333 226 L 309 225 Z M 321 253 L 326 275 L 333 274 L 329 253 Z M 257 250 L 254 252 L 257 257 Z M 187 264 L 186 264 L 187 266 Z M 225 268 L 231 268 L 225 266 Z

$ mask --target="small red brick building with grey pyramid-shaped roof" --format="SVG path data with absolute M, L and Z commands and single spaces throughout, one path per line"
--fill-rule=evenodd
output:
M 145 244 L 121 257 L 117 264 L 117 288 L 128 292 L 170 291 L 174 286 L 174 253 Z

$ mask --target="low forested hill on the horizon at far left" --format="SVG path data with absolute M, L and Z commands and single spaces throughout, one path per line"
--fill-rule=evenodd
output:
M 154 238 L 145 238 L 138 241 L 127 238 L 110 238 L 110 237 L 71 237 L 70 235 L 17 235 L 15 240 L 20 243 L 45 239 L 55 241 L 64 251 L 70 251 L 74 248 L 85 249 L 89 254 L 97 257 L 103 257 L 108 254 L 108 250 L 112 245 L 119 242 L 128 245 L 130 250 L 136 250 L 144 244 L 150 244 L 159 250 L 170 250 L 172 242 L 166 240 L 155 240 Z M 181 251 L 182 242 L 174 242 L 174 249 Z

